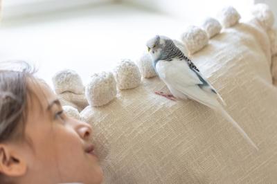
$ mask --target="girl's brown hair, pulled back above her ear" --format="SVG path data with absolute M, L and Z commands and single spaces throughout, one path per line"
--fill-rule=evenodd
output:
M 26 62 L 0 64 L 0 142 L 24 136 L 30 94 L 27 83 L 34 72 Z

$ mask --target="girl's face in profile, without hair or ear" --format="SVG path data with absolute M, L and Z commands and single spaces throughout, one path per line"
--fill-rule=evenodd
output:
M 32 82 L 30 82 L 32 83 Z M 69 118 L 43 82 L 31 85 L 26 138 L 19 153 L 26 160 L 21 183 L 101 183 L 102 169 L 93 154 L 93 131 L 86 122 Z

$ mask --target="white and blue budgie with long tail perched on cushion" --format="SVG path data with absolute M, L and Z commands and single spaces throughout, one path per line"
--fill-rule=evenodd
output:
M 189 98 L 211 109 L 215 109 L 215 111 L 222 113 L 222 116 L 229 120 L 240 134 L 258 150 L 258 147 L 240 125 L 224 110 L 222 104 L 225 106 L 226 103 L 220 94 L 200 73 L 195 64 L 175 45 L 172 39 L 157 35 L 150 39 L 146 46 L 152 57 L 155 71 L 172 93 L 172 95 L 167 95 L 163 92 L 157 94 L 163 95 L 170 100 L 175 100 L 175 98 L 186 100 Z M 222 104 L 217 98 L 220 99 Z

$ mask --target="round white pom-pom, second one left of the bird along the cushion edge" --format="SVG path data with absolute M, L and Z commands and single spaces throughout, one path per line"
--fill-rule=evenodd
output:
M 118 89 L 132 89 L 141 83 L 139 67 L 130 59 L 123 59 L 114 69 Z

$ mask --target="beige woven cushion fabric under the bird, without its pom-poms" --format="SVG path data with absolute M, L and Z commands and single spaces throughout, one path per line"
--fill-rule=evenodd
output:
M 212 109 L 155 95 L 167 91 L 157 77 L 84 109 L 105 183 L 276 183 L 277 90 L 269 59 L 269 38 L 256 20 L 223 30 L 193 55 L 259 151 Z

